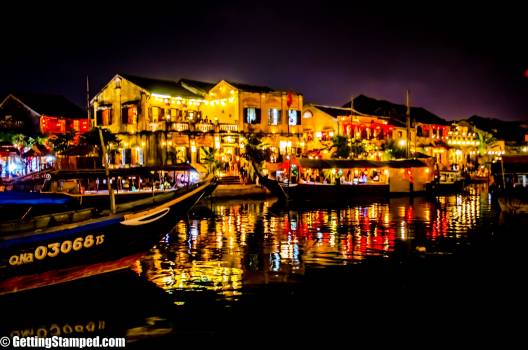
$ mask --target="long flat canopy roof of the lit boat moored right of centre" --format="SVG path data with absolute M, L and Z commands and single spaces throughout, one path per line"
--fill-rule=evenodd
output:
M 389 161 L 350 160 L 350 159 L 309 159 L 298 158 L 300 166 L 311 169 L 349 169 L 349 168 L 423 168 L 427 164 L 418 159 Z

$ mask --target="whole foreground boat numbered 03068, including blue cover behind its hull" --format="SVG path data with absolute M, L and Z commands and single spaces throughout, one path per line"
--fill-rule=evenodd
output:
M 207 192 L 213 177 L 124 201 L 115 212 L 62 193 L 1 193 L 0 279 L 112 260 L 147 250 Z M 109 196 L 100 197 L 108 200 Z M 97 203 L 98 204 L 98 203 Z

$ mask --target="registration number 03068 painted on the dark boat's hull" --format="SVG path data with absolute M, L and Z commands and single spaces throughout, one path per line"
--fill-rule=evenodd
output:
M 49 243 L 47 245 L 39 245 L 32 252 L 12 255 L 9 258 L 9 265 L 18 266 L 30 264 L 36 260 L 54 258 L 61 254 L 68 254 L 72 251 L 88 249 L 103 243 L 104 235 L 87 235 L 84 237 L 77 237 L 73 241 L 65 240 L 62 242 Z

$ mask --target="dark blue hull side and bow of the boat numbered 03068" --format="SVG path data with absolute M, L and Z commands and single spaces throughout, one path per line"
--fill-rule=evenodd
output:
M 42 232 L 4 235 L 0 237 L 0 281 L 146 251 L 210 191 L 210 186 L 203 183 L 138 210 Z

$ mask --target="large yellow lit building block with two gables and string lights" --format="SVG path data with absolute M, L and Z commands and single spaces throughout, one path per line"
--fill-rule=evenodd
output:
M 113 166 L 196 164 L 213 150 L 232 162 L 245 133 L 293 152 L 301 147 L 302 107 L 302 95 L 286 90 L 128 74 L 115 75 L 91 100 L 93 124 L 121 141 L 110 148 Z

